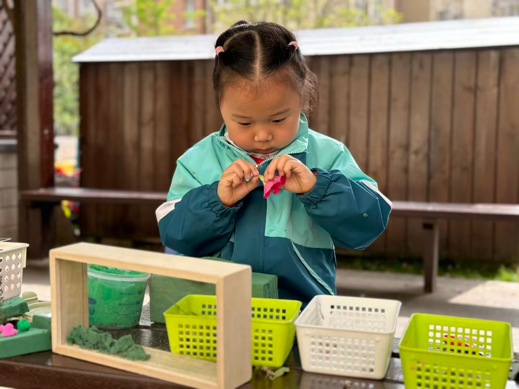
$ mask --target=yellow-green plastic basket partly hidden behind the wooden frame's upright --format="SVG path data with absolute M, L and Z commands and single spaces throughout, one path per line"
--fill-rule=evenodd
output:
M 300 301 L 252 299 L 252 364 L 283 366 L 292 349 Z M 174 354 L 216 361 L 216 296 L 189 295 L 164 312 Z

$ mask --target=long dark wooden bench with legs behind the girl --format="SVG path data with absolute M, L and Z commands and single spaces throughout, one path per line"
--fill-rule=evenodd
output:
M 27 206 L 42 209 L 42 240 L 50 244 L 51 209 L 62 200 L 93 204 L 127 204 L 159 206 L 166 199 L 162 192 L 132 192 L 87 188 L 46 188 L 21 193 Z M 519 205 L 515 204 L 452 204 L 426 202 L 393 202 L 392 216 L 423 220 L 424 290 L 434 292 L 438 274 L 439 221 L 442 219 L 488 220 L 519 222 Z M 41 252 L 46 252 L 47 247 Z

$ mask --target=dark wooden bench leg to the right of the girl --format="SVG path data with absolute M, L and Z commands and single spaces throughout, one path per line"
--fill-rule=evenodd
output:
M 438 258 L 440 244 L 440 226 L 437 220 L 424 221 L 424 270 L 425 293 L 433 293 L 438 276 Z

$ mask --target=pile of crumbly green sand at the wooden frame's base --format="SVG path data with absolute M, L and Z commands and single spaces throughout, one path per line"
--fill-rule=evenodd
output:
M 77 326 L 67 336 L 70 345 L 77 344 L 79 347 L 96 350 L 103 354 L 115 355 L 132 361 L 147 361 L 150 355 L 146 354 L 142 346 L 135 344 L 131 335 L 121 336 L 114 339 L 112 335 L 98 330 L 96 327 L 86 329 Z

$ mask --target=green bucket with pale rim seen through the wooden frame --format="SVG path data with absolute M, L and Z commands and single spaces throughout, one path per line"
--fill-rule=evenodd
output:
M 131 328 L 139 324 L 147 273 L 90 265 L 88 316 L 90 326 Z

